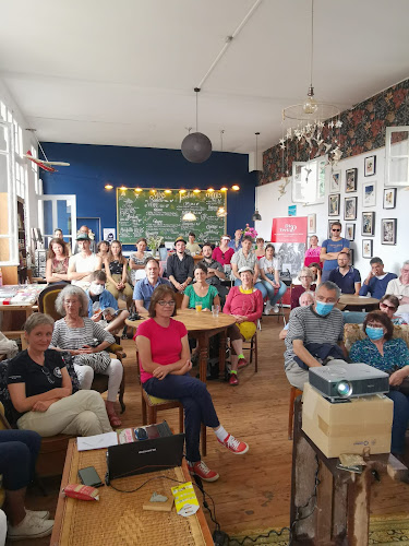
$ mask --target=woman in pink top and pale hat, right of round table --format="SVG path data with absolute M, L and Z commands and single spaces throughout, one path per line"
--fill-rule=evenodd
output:
M 229 378 L 229 384 L 231 385 L 239 384 L 237 370 L 244 368 L 249 364 L 243 355 L 243 339 L 252 337 L 256 329 L 257 319 L 263 313 L 262 293 L 253 286 L 254 271 L 250 266 L 244 265 L 240 268 L 239 275 L 241 286 L 230 288 L 225 307 L 222 308 L 222 312 L 236 317 L 237 322 L 227 329 L 227 337 L 230 337 L 231 343 L 231 370 Z

